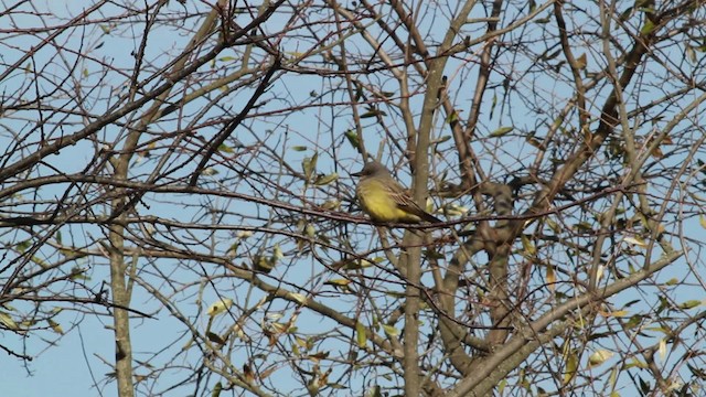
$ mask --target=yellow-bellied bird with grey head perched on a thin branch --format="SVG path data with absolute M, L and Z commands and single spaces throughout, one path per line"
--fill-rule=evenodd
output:
M 411 224 L 422 221 L 429 223 L 442 222 L 421 210 L 409 196 L 405 187 L 378 161 L 368 161 L 361 171 L 351 175 L 360 178 L 355 194 L 363 212 L 371 219 L 384 223 Z

